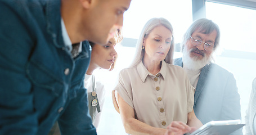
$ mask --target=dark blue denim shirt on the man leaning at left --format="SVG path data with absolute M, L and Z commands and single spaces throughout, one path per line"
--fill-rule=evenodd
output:
M 91 47 L 64 46 L 60 0 L 0 0 L 0 134 L 96 134 L 83 79 Z

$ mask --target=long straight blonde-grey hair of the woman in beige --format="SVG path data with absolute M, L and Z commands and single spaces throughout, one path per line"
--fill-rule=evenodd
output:
M 136 53 L 135 53 L 136 56 L 134 57 L 131 67 L 138 65 L 142 61 L 142 59 L 145 55 L 145 49 L 142 50 L 143 39 L 147 38 L 147 36 L 151 33 L 151 31 L 156 26 L 164 26 L 165 28 L 170 30 L 170 32 L 172 33 L 172 36 L 173 36 L 173 27 L 167 19 L 160 17 L 160 18 L 152 18 L 149 21 L 147 21 L 147 23 L 145 24 L 144 28 L 141 31 L 140 37 L 137 40 Z M 167 56 L 165 57 L 164 61 L 169 64 L 172 64 L 173 63 L 173 54 L 174 54 L 174 39 L 172 39 L 172 42 L 170 43 L 170 50 L 168 51 Z

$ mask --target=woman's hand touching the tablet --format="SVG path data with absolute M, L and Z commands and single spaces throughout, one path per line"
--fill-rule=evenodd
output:
M 183 122 L 172 122 L 167 127 L 167 132 L 164 135 L 182 135 L 185 133 L 192 133 L 196 130 L 194 127 L 189 127 L 187 124 Z

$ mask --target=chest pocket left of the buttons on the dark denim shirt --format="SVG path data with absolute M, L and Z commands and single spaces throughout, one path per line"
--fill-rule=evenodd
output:
M 41 129 L 51 126 L 62 110 L 65 110 L 63 107 L 68 96 L 68 85 L 57 78 L 55 70 L 44 64 L 30 61 L 26 65 L 26 74 L 32 82 L 34 110 L 38 113 Z

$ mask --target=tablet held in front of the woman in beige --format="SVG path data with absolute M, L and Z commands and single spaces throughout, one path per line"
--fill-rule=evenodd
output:
M 204 124 L 190 135 L 227 135 L 243 127 L 241 120 L 221 120 Z

